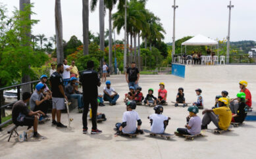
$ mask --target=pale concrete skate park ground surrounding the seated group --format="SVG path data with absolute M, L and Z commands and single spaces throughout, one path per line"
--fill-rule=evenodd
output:
M 256 65 L 224 65 L 224 66 L 186 66 L 186 77 L 179 78 L 172 75 L 141 75 L 139 84 L 143 95 L 147 89 L 153 88 L 157 96 L 159 83 L 164 82 L 168 91 L 168 106 L 164 106 L 163 114 L 171 120 L 166 127 L 166 133 L 174 133 L 178 127 L 184 127 L 188 107 L 174 107 L 178 87 L 184 88 L 186 102 L 195 102 L 197 97 L 195 89 L 201 88 L 205 108 L 215 104 L 215 96 L 222 90 L 229 92 L 231 98 L 236 97 L 240 91 L 238 82 L 248 81 L 247 88 L 251 91 L 252 99 L 256 95 Z M 124 93 L 128 92 L 128 84 L 124 75 L 113 75 L 110 78 L 111 87 L 120 95 L 115 106 L 99 106 L 98 112 L 105 113 L 106 122 L 97 124 L 103 133 L 90 134 L 91 121 L 88 120 L 88 134 L 82 133 L 82 114 L 77 109 L 72 110 L 70 116 L 74 118 L 68 129 L 57 129 L 51 126 L 51 121 L 39 124 L 38 132 L 47 139 L 30 139 L 19 142 L 11 138 L 7 143 L 9 134 L 6 127 L 0 132 L 0 158 L 255 158 L 253 147 L 256 143 L 256 122 L 244 122 L 239 127 L 217 135 L 213 133 L 216 128 L 213 123 L 205 131 L 205 137 L 195 137 L 193 141 L 186 141 L 184 137 L 174 137 L 165 140 L 159 137 L 148 137 L 147 133 L 136 138 L 115 137 L 116 122 L 122 122 L 122 114 L 126 111 L 123 102 Z M 99 87 L 103 93 L 105 83 Z M 253 102 L 253 109 L 255 108 Z M 142 120 L 141 129 L 150 129 L 147 116 L 153 114 L 153 107 L 137 106 L 136 111 Z M 203 118 L 199 110 L 198 115 Z M 61 120 L 67 125 L 67 114 L 62 114 Z M 26 127 L 18 127 L 18 133 Z

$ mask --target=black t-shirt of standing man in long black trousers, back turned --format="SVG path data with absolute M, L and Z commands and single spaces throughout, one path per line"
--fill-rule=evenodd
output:
M 98 73 L 94 70 L 86 70 L 82 73 L 80 76 L 80 82 L 83 86 L 83 94 L 85 98 L 97 98 L 98 83 L 100 81 Z

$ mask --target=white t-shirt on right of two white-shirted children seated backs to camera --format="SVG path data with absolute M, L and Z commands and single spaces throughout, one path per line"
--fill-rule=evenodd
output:
M 164 121 L 168 120 L 167 116 L 164 116 L 163 114 L 151 114 L 149 119 L 153 120 L 151 125 L 152 133 L 163 133 L 165 131 Z

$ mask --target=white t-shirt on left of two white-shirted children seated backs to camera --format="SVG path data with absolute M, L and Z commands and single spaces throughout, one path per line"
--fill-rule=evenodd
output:
M 135 110 L 124 112 L 122 122 L 126 122 L 126 127 L 122 129 L 122 132 L 135 133 L 137 129 L 137 120 L 140 120 L 140 116 Z

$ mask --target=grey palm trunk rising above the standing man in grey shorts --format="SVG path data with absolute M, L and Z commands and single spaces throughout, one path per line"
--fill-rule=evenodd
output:
M 55 0 L 55 34 L 57 44 L 57 62 L 62 64 L 64 60 L 63 53 L 63 18 L 61 16 L 61 0 Z

